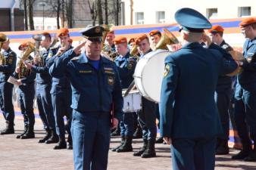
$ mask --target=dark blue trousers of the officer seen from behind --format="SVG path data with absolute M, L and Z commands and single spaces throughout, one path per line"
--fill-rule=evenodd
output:
M 173 139 L 173 170 L 214 170 L 216 138 Z

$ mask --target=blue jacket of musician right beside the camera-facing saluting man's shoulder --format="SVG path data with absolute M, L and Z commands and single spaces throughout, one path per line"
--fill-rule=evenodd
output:
M 128 88 L 131 82 L 133 82 L 136 58 L 130 57 L 130 52 L 128 51 L 124 57 L 118 56 L 114 63 L 117 65 L 122 88 Z

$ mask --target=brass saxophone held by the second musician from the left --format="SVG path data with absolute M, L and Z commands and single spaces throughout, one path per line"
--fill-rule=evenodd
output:
M 20 57 L 19 63 L 17 63 L 17 67 L 20 68 L 20 72 L 18 73 L 19 79 L 30 75 L 31 70 L 26 68 L 23 61 L 30 62 L 30 53 L 33 51 L 35 51 L 35 45 L 32 42 L 27 42 L 27 49 L 23 52 L 22 57 Z

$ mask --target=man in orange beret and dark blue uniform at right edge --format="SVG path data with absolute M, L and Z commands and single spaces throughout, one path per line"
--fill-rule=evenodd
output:
M 256 161 L 256 18 L 249 17 L 239 24 L 246 41 L 243 46 L 245 60 L 240 62 L 242 73 L 238 75 L 236 94 L 242 100 L 235 104 L 237 131 L 242 141 L 242 150 L 233 159 Z M 247 128 L 248 126 L 248 128 Z M 250 137 L 248 136 L 248 131 Z M 254 142 L 252 149 L 251 140 Z

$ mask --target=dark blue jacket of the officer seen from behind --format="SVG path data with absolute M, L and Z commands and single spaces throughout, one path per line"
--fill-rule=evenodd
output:
M 236 70 L 236 62 L 193 42 L 170 54 L 165 64 L 159 104 L 161 135 L 208 138 L 221 134 L 214 91 L 218 76 Z

